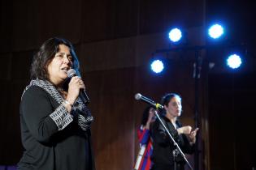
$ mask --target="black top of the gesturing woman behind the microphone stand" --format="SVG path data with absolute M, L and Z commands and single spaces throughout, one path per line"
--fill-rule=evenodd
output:
M 167 126 L 171 136 L 180 146 L 181 151 L 187 154 L 192 154 L 194 151 L 194 145 L 189 144 L 189 139 L 184 134 L 178 134 L 178 131 L 172 125 L 171 121 L 167 117 L 161 117 L 164 125 Z M 181 127 L 180 121 L 176 121 L 177 128 Z M 151 135 L 153 138 L 153 155 L 151 157 L 153 161 L 154 170 L 174 169 L 173 150 L 176 148 L 171 142 L 171 138 L 166 134 L 163 125 L 158 120 L 151 125 Z M 176 159 L 177 170 L 184 168 L 184 159 L 179 154 Z

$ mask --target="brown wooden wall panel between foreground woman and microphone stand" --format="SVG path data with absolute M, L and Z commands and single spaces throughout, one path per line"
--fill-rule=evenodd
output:
M 133 69 L 97 71 L 86 76 L 95 117 L 93 144 L 98 169 L 132 169 Z

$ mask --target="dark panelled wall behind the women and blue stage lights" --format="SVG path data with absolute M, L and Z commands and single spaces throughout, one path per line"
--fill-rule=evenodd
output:
M 16 164 L 22 155 L 20 96 L 29 82 L 33 52 L 46 39 L 71 40 L 80 58 L 95 122 L 93 148 L 98 170 L 130 170 L 138 151 L 136 129 L 146 104 L 137 92 L 160 101 L 166 92 L 183 97 L 184 125 L 194 126 L 199 100 L 201 170 L 255 168 L 255 10 L 246 1 L 100 0 L 14 1 L 0 3 L 0 164 Z M 156 49 L 167 49 L 171 26 L 186 29 L 188 45 L 210 45 L 206 28 L 226 24 L 221 48 L 203 49 L 199 93 L 193 79 L 194 51 L 164 53 L 165 72 L 150 73 Z M 224 66 L 226 45 L 241 45 L 244 64 Z M 213 69 L 208 68 L 214 62 Z M 193 156 L 189 156 L 193 164 Z

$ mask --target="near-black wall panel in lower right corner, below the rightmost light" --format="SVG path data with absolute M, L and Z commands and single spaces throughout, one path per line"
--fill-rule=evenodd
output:
M 210 168 L 253 169 L 255 72 L 210 74 Z M 215 82 L 216 81 L 216 82 Z M 213 83 L 215 82 L 215 83 Z

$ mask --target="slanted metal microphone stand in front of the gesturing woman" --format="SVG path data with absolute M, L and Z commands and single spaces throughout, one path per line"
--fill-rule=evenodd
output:
M 158 105 L 156 105 L 156 106 L 158 106 Z M 157 107 L 157 108 L 158 108 L 158 107 Z M 163 124 L 163 121 L 162 121 L 162 119 L 159 117 L 158 112 L 157 112 L 156 110 L 154 111 L 154 115 L 158 118 L 158 120 L 160 121 L 161 125 L 163 125 L 163 129 L 166 131 L 166 133 L 167 133 L 167 134 L 169 135 L 169 137 L 171 138 L 171 141 L 172 141 L 174 147 L 176 147 L 176 149 L 174 149 L 174 150 L 172 151 L 172 155 L 173 155 L 173 159 L 174 159 L 174 170 L 176 170 L 176 168 L 177 168 L 176 158 L 177 158 L 177 156 L 178 156 L 179 153 L 180 153 L 180 155 L 182 155 L 184 161 L 189 165 L 189 168 L 193 170 L 192 166 L 189 164 L 188 159 L 186 159 L 184 153 L 180 150 L 180 147 L 179 147 L 178 143 L 174 140 L 174 138 L 172 138 L 172 136 L 171 136 L 169 130 L 167 130 L 167 127 Z

